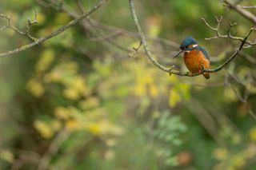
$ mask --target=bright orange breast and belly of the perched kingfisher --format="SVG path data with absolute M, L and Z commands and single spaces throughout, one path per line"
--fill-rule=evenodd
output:
M 196 49 L 186 52 L 184 54 L 184 61 L 187 69 L 192 73 L 202 71 L 202 65 L 205 69 L 210 69 L 210 61 L 206 59 L 202 51 L 198 51 Z

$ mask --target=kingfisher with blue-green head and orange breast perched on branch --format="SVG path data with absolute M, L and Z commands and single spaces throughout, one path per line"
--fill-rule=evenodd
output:
M 184 61 L 187 69 L 190 70 L 190 76 L 193 73 L 201 73 L 203 68 L 210 69 L 210 57 L 206 49 L 199 46 L 194 38 L 185 38 L 179 48 L 180 50 L 174 57 L 184 52 Z M 206 79 L 210 78 L 210 73 L 202 73 L 202 75 Z

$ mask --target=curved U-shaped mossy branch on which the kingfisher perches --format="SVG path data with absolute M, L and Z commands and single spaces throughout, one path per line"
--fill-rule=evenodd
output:
M 251 34 L 252 30 L 254 30 L 254 28 L 250 29 L 250 31 L 246 34 L 245 38 L 243 38 L 243 40 L 241 42 L 241 45 L 238 47 L 238 49 L 224 63 L 222 63 L 222 65 L 218 65 L 218 67 L 216 67 L 215 69 L 202 69 L 201 73 L 194 73 L 193 75 L 190 75 L 189 72 L 180 72 L 178 70 L 174 70 L 174 66 L 172 67 L 172 69 L 167 69 L 165 66 L 159 64 L 158 61 L 156 61 L 154 59 L 152 53 L 150 52 L 150 48 L 148 47 L 148 45 L 146 43 L 146 37 L 145 37 L 145 34 L 143 33 L 142 27 L 140 26 L 140 23 L 138 22 L 138 17 L 137 17 L 137 14 L 135 12 L 135 8 L 134 8 L 134 0 L 129 0 L 129 5 L 130 5 L 130 12 L 131 12 L 132 18 L 134 20 L 134 24 L 135 24 L 135 26 L 138 30 L 139 37 L 141 39 L 143 48 L 144 48 L 145 53 L 146 53 L 146 57 L 148 57 L 148 59 L 155 66 L 157 66 L 158 69 L 162 69 L 162 71 L 165 71 L 166 73 L 176 74 L 178 76 L 194 77 L 194 76 L 198 76 L 202 73 L 218 72 L 223 67 L 225 67 L 228 63 L 230 63 L 230 61 L 232 61 L 234 59 L 234 57 L 236 57 L 238 55 L 238 53 L 242 50 L 243 45 L 245 45 L 245 43 L 246 43 L 249 35 Z

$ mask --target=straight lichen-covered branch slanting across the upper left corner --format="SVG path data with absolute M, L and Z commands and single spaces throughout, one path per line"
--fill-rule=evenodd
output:
M 88 17 L 90 14 L 94 13 L 94 11 L 98 10 L 98 8 L 100 6 L 102 6 L 103 2 L 106 2 L 107 0 L 101 0 L 99 1 L 94 7 L 92 7 L 88 12 L 82 14 L 80 17 L 78 18 L 74 18 L 72 21 L 70 21 L 68 24 L 66 24 L 66 26 L 62 26 L 62 28 L 54 31 L 53 33 L 51 34 L 48 34 L 46 35 L 46 37 L 42 37 L 42 38 L 39 38 L 37 39 L 35 42 L 31 42 L 30 44 L 27 44 L 27 45 L 23 45 L 17 49 L 13 49 L 13 50 L 10 50 L 6 53 L 0 53 L 0 57 L 6 57 L 6 56 L 10 56 L 14 53 L 19 53 L 21 51 L 24 51 L 26 49 L 30 49 L 31 47 L 35 46 L 35 45 L 38 45 L 42 42 L 45 42 L 46 40 L 50 39 L 50 38 L 53 38 L 55 37 L 56 35 L 58 34 L 61 34 L 62 32 L 64 32 L 65 30 L 68 30 L 70 29 L 71 26 L 74 26 L 75 24 L 77 24 L 78 22 L 82 21 L 82 19 Z

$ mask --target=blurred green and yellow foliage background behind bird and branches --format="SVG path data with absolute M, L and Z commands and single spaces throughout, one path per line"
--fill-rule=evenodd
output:
M 96 2 L 79 6 L 89 10 Z M 31 34 L 40 38 L 81 14 L 78 3 L 2 0 L 0 11 L 25 30 L 35 9 Z M 135 6 L 154 57 L 183 71 L 182 57 L 172 57 L 186 36 L 208 50 L 212 68 L 239 45 L 206 41 L 214 32 L 200 18 L 216 26 L 214 16 L 223 16 L 223 34 L 237 22 L 231 33 L 241 37 L 252 26 L 221 1 L 140 0 Z M 1 18 L 0 26 L 6 24 Z M 0 38 L 1 52 L 30 42 L 10 29 Z M 205 80 L 169 76 L 142 48 L 135 52 L 138 45 L 128 1 L 110 0 L 57 37 L 1 57 L 0 168 L 256 169 L 255 48 Z

